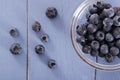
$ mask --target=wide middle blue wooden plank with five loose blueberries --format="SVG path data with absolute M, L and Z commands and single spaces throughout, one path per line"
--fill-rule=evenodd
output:
M 94 69 L 78 57 L 70 40 L 70 21 L 81 2 L 83 0 L 29 0 L 29 80 L 94 80 Z M 46 17 L 48 7 L 57 8 L 57 18 Z M 41 23 L 40 34 L 32 30 L 35 21 Z M 43 33 L 49 35 L 48 43 L 40 41 Z M 38 44 L 45 46 L 45 54 L 35 53 Z M 56 68 L 48 68 L 49 59 L 56 60 Z

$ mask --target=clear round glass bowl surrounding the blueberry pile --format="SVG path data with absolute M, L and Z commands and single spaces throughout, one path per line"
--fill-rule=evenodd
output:
M 71 41 L 72 45 L 78 54 L 78 56 L 87 64 L 91 65 L 92 67 L 96 69 L 101 70 L 120 70 L 120 59 L 115 58 L 115 60 L 112 63 L 107 63 L 103 58 L 100 57 L 92 57 L 90 54 L 85 54 L 82 52 L 82 46 L 76 42 L 76 27 L 77 25 L 83 24 L 86 22 L 85 15 L 88 12 L 88 9 L 95 4 L 97 1 L 102 0 L 85 0 L 80 6 L 76 9 L 76 11 L 73 14 L 72 21 L 71 21 Z M 113 7 L 119 7 L 120 1 L 119 0 L 103 0 L 105 3 L 110 3 Z

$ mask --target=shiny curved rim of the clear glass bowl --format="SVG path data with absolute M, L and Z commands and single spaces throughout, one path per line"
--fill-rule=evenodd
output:
M 87 58 L 85 56 L 85 54 L 83 54 L 82 50 L 80 49 L 79 45 L 76 43 L 76 39 L 74 37 L 74 33 L 76 31 L 76 29 L 74 28 L 76 26 L 76 22 L 79 19 L 81 13 L 83 12 L 84 8 L 89 5 L 91 2 L 95 3 L 97 1 L 100 0 L 85 0 L 83 3 L 81 3 L 78 8 L 76 9 L 76 11 L 74 12 L 73 16 L 72 16 L 72 20 L 71 20 L 71 29 L 70 29 L 70 37 L 71 37 L 71 42 L 72 45 L 76 51 L 76 53 L 78 54 L 78 56 L 87 64 L 89 64 L 90 66 L 96 68 L 96 69 L 100 69 L 100 70 L 106 70 L 106 71 L 113 71 L 113 70 L 120 70 L 120 64 L 115 64 L 115 65 L 104 65 L 104 64 L 100 64 L 97 63 L 89 58 Z

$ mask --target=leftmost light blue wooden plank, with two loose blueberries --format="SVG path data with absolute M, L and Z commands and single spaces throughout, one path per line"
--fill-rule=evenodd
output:
M 26 0 L 0 0 L 0 80 L 26 80 L 27 54 Z M 16 28 L 18 37 L 9 31 Z M 22 47 L 20 55 L 9 51 L 13 43 Z

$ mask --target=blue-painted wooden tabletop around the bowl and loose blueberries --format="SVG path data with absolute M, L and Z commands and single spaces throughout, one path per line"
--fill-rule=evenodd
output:
M 83 62 L 70 40 L 70 22 L 74 11 L 84 0 L 0 0 L 0 80 L 120 80 L 120 71 L 106 72 Z M 108 0 L 109 1 L 109 0 Z M 46 17 L 47 7 L 56 7 L 58 16 Z M 32 30 L 40 22 L 42 32 L 49 35 L 48 43 Z M 20 36 L 13 38 L 9 30 L 17 28 Z M 13 55 L 9 48 L 20 43 L 23 51 Z M 43 55 L 35 53 L 36 45 L 46 48 Z M 57 66 L 47 63 L 55 59 Z

